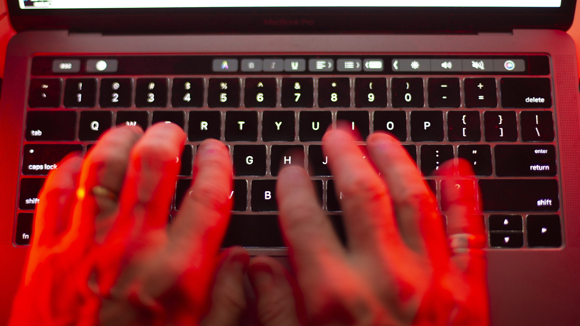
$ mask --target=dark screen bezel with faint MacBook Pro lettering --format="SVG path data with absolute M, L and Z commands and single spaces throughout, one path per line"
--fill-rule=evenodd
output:
M 514 28 L 567 30 L 576 0 L 559 8 L 333 7 L 20 9 L 8 1 L 17 31 L 66 29 L 103 34 L 183 33 L 477 33 Z M 286 22 L 284 24 L 283 22 Z

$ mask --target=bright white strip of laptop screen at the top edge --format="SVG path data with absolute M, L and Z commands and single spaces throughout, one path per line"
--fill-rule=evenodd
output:
M 22 9 L 217 7 L 559 7 L 561 0 L 19 0 Z

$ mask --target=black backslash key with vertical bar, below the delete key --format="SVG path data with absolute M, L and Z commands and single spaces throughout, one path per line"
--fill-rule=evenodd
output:
M 521 140 L 524 142 L 552 142 L 554 124 L 550 111 L 521 111 Z

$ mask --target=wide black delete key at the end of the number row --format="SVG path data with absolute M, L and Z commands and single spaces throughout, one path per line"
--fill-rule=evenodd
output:
M 552 107 L 549 78 L 502 78 L 499 85 L 503 107 Z

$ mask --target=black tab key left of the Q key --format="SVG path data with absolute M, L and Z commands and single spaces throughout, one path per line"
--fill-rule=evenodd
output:
M 75 111 L 29 111 L 26 116 L 26 140 L 74 140 Z

